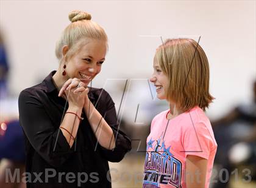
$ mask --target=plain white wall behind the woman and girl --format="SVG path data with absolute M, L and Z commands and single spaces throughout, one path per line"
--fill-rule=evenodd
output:
M 160 37 L 198 39 L 210 62 L 211 116 L 248 101 L 256 78 L 255 1 L 0 1 L 1 32 L 18 93 L 57 69 L 55 42 L 68 13 L 91 13 L 109 38 L 107 61 L 93 86 L 107 78 L 148 78 Z M 158 35 L 146 37 L 145 35 Z

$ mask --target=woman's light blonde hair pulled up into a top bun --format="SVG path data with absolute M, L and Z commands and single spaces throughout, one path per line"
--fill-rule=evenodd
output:
M 104 40 L 107 45 L 107 35 L 104 29 L 96 22 L 91 21 L 89 13 L 73 10 L 69 13 L 68 18 L 71 24 L 62 32 L 55 47 L 55 55 L 59 60 L 63 58 L 62 49 L 65 45 L 69 49 L 65 58 L 71 58 L 71 56 L 79 52 L 81 45 L 86 42 L 86 39 Z

